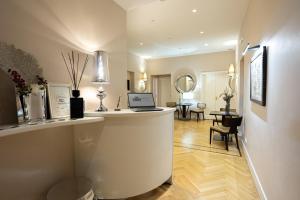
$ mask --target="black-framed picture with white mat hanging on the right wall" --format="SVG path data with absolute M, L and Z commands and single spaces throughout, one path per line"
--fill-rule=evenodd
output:
M 254 54 L 250 63 L 250 99 L 266 106 L 267 90 L 267 47 L 262 47 Z

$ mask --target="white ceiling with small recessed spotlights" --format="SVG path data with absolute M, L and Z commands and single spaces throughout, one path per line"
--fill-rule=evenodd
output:
M 128 47 L 146 59 L 233 50 L 248 0 L 115 0 Z

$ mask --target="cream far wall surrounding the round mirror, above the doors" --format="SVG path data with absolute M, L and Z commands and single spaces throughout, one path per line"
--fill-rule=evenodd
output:
M 203 101 L 202 93 L 202 72 L 227 71 L 231 63 L 235 63 L 234 51 L 226 51 L 211 54 L 199 54 L 173 58 L 147 60 L 147 70 L 151 75 L 171 74 L 171 99 L 178 100 L 178 93 L 175 90 L 174 82 L 182 74 L 191 74 L 197 79 L 197 86 L 193 92 L 195 101 Z

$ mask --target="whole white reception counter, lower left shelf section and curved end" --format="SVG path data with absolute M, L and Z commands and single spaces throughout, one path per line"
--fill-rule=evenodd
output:
M 0 130 L 0 199 L 39 199 L 74 174 L 89 178 L 105 199 L 171 182 L 174 111 L 91 112 Z

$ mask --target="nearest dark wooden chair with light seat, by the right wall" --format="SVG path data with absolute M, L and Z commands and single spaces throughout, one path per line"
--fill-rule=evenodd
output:
M 224 116 L 222 119 L 222 125 L 216 125 L 210 127 L 210 136 L 209 136 L 209 144 L 211 144 L 212 135 L 214 132 L 218 132 L 224 138 L 225 147 L 228 151 L 228 140 L 229 135 L 234 135 L 236 140 L 236 146 L 239 150 L 240 156 L 242 156 L 240 147 L 239 147 L 239 140 L 238 140 L 238 127 L 242 124 L 243 117 L 229 117 Z

